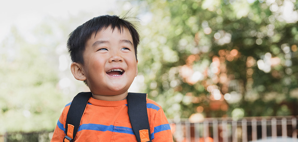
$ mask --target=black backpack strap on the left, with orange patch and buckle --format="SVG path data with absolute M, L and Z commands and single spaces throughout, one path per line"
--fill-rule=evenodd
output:
M 80 126 L 80 121 L 85 111 L 87 102 L 89 98 L 92 96 L 91 92 L 81 92 L 78 93 L 69 107 L 66 124 L 65 124 L 65 132 L 66 136 L 63 139 L 63 142 L 73 142 L 75 139 L 75 135 L 77 134 L 77 130 Z

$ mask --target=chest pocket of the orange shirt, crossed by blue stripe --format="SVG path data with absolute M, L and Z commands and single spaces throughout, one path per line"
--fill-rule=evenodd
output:
M 127 122 L 115 122 L 111 142 L 137 142 L 131 124 Z

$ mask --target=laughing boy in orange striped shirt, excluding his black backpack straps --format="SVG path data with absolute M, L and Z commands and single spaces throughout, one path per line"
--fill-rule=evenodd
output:
M 75 141 L 137 141 L 128 116 L 128 88 L 138 74 L 136 57 L 139 34 L 130 22 L 118 16 L 95 17 L 78 26 L 67 47 L 72 59 L 71 71 L 84 81 L 89 98 Z M 67 104 L 57 122 L 52 142 L 62 142 Z M 173 141 L 170 125 L 160 105 L 147 99 L 152 141 Z

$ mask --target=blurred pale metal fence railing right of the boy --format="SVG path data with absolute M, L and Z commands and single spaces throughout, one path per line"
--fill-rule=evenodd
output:
M 169 120 L 177 142 L 297 142 L 297 116 Z

